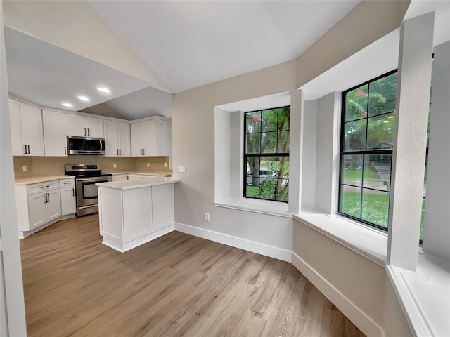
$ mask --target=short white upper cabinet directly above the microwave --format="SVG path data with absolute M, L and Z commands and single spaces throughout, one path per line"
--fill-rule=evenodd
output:
M 103 119 L 65 114 L 65 133 L 67 136 L 103 138 Z

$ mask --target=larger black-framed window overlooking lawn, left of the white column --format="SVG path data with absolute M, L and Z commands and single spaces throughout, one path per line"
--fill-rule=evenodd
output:
M 397 71 L 342 93 L 339 213 L 387 229 Z

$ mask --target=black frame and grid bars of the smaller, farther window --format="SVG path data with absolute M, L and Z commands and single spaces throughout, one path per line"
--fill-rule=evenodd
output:
M 247 153 L 247 119 L 246 116 L 247 114 L 251 114 L 251 113 L 255 113 L 255 112 L 264 112 L 267 110 L 274 110 L 274 109 L 285 109 L 285 108 L 289 108 L 290 109 L 290 105 L 283 105 L 281 107 L 269 107 L 269 108 L 264 108 L 264 109 L 259 109 L 259 110 L 252 110 L 252 111 L 247 111 L 244 112 L 243 114 L 243 136 L 244 136 L 244 141 L 243 141 L 243 197 L 246 199 L 257 199 L 257 200 L 264 200 L 264 201 L 276 201 L 276 202 L 284 202 L 284 203 L 288 203 L 288 200 L 280 200 L 280 199 L 276 199 L 276 194 L 274 194 L 274 198 L 273 199 L 267 199 L 267 198 L 262 198 L 262 197 L 252 197 L 252 196 L 248 196 L 247 195 L 247 162 L 248 162 L 248 157 L 290 157 L 290 152 L 278 152 L 278 143 L 276 145 L 276 152 L 261 152 L 259 151 L 258 153 Z M 277 124 L 278 124 L 278 112 L 277 112 Z M 278 132 L 282 132 L 282 131 L 289 131 L 290 132 L 290 122 L 289 122 L 289 128 L 287 129 L 283 129 L 281 131 L 276 131 L 276 133 Z M 275 132 L 275 131 L 271 131 L 271 132 Z M 259 133 L 264 133 L 264 131 L 262 131 L 262 129 L 259 131 Z M 262 137 L 261 137 L 262 138 Z M 278 142 L 278 137 L 277 137 L 277 142 Z M 290 144 L 290 133 L 289 133 L 289 144 Z M 289 145 L 290 147 L 290 145 Z M 275 162 L 277 162 L 277 160 L 275 159 Z M 259 171 L 261 172 L 261 168 L 259 168 Z M 275 176 L 274 178 L 270 178 L 270 179 L 274 179 L 275 181 L 278 180 L 287 180 L 289 181 L 289 178 L 283 178 L 283 177 L 278 177 L 276 176 L 276 170 L 275 170 Z M 288 194 L 288 198 L 289 198 L 289 194 Z

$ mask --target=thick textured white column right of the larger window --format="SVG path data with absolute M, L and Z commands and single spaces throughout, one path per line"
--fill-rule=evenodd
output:
M 435 13 L 401 25 L 387 262 L 416 270 Z

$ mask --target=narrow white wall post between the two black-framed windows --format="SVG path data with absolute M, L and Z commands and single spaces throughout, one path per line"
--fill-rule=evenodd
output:
M 303 91 L 290 93 L 289 213 L 298 214 L 302 204 Z

